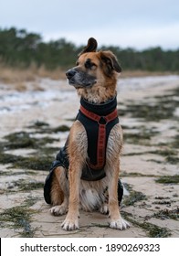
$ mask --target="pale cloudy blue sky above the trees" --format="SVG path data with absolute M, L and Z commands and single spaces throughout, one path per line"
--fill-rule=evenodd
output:
M 77 46 L 179 48 L 178 0 L 0 0 L 0 28 L 25 28 L 44 41 Z

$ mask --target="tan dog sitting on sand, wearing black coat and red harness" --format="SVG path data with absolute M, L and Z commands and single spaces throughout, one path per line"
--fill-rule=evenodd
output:
M 90 37 L 76 67 L 66 73 L 80 96 L 80 109 L 44 187 L 51 213 L 67 213 L 61 225 L 65 230 L 79 229 L 79 207 L 109 213 L 112 229 L 130 226 L 121 218 L 119 206 L 122 131 L 116 84 L 121 66 L 111 51 L 96 51 L 97 46 Z

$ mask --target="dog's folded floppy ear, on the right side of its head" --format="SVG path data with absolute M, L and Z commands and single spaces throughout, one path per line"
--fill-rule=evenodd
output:
M 105 63 L 105 71 L 107 75 L 111 75 L 111 72 L 115 70 L 118 73 L 121 73 L 121 66 L 118 63 L 115 55 L 110 51 L 100 51 L 100 59 Z

